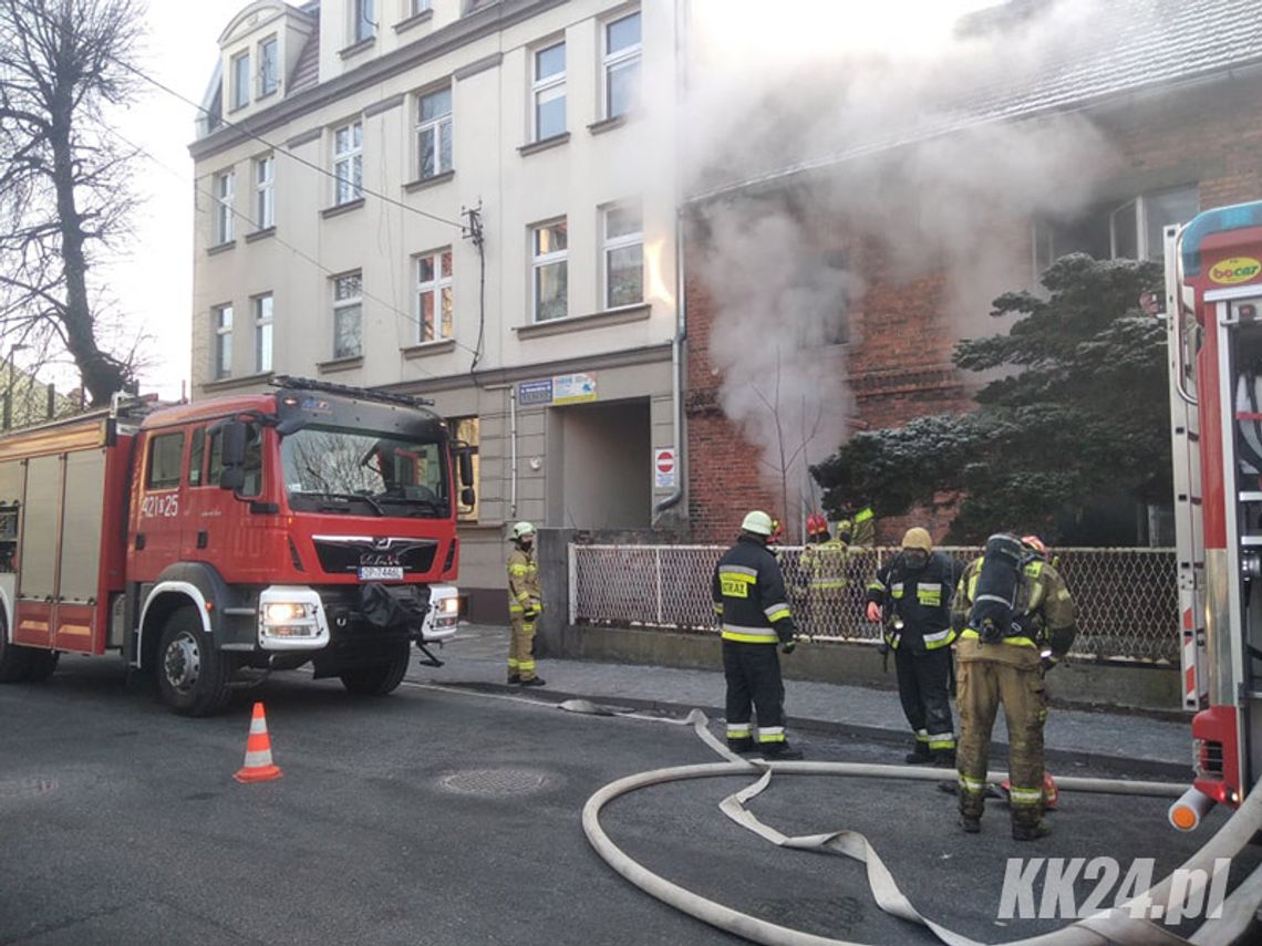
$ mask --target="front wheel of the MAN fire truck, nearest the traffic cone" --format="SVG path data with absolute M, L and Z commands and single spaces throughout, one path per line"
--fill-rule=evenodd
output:
M 193 610 L 177 610 L 158 643 L 158 694 L 182 716 L 211 716 L 228 705 L 232 665 L 215 648 Z

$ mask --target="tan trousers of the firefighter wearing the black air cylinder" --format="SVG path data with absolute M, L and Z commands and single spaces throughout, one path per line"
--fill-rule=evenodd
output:
M 1002 704 L 1008 727 L 1012 821 L 1037 824 L 1042 815 L 1042 725 L 1047 719 L 1039 651 L 967 638 L 957 647 L 960 814 L 982 816 L 991 729 Z

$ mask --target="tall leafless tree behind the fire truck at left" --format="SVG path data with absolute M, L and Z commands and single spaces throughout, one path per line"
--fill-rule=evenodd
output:
M 105 110 L 135 97 L 139 0 L 0 0 L 0 337 L 67 352 L 93 404 L 131 385 L 101 344 L 93 264 L 127 235 L 135 154 Z

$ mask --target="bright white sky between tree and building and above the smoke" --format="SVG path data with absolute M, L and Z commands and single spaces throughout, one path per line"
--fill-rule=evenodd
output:
M 779 0 L 779 15 L 769 20 L 765 0 L 694 0 L 694 29 L 700 29 L 695 20 L 704 20 L 714 39 L 738 54 L 747 52 L 742 44 L 756 44 L 764 54 L 769 44 L 784 45 L 794 55 L 818 50 L 820 44 L 828 49 L 897 48 L 906 54 L 940 42 L 944 21 L 989 1 L 911 0 L 895 10 L 875 0 Z M 247 0 L 149 0 L 149 40 L 139 67 L 199 102 L 218 58 L 218 35 L 246 5 Z M 750 8 L 747 15 L 732 15 L 742 5 Z M 714 15 L 717 8 L 723 15 Z M 801 23 L 813 28 L 803 32 Z M 187 102 L 149 87 L 117 124 L 119 134 L 151 158 L 143 159 L 138 172 L 138 190 L 148 202 L 136 214 L 131 259 L 111 266 L 106 279 L 134 330 L 153 338 L 145 347 L 153 365 L 141 373 L 141 388 L 164 399 L 180 395 L 191 368 L 193 163 L 188 145 L 196 114 Z

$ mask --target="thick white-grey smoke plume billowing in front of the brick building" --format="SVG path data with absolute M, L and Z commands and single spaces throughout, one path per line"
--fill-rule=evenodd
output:
M 833 343 L 857 341 L 859 257 L 878 247 L 885 280 L 943 271 L 948 312 L 933 315 L 957 337 L 993 332 L 991 299 L 1032 276 L 1030 221 L 1073 216 L 1111 170 L 1085 119 L 1003 121 L 1002 103 L 1121 14 L 1012 0 L 1002 28 L 959 30 L 993 5 L 692 0 L 683 182 L 705 231 L 711 362 L 790 518 L 811 502 L 804 464 L 848 435 Z M 878 312 L 863 323 L 882 330 Z M 902 367 L 940 367 L 924 359 Z

